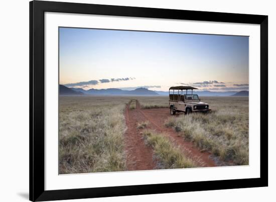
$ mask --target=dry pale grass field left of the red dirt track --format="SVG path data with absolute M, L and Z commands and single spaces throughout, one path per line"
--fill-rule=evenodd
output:
M 125 100 L 114 96 L 60 97 L 59 174 L 126 170 Z

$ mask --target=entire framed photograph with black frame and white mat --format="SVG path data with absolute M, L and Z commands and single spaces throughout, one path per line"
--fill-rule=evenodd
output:
M 30 200 L 267 186 L 267 22 L 30 2 Z

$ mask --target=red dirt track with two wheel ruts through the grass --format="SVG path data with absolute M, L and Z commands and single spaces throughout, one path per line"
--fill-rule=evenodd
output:
M 216 166 L 214 160 L 210 159 L 208 152 L 200 152 L 193 146 L 193 143 L 185 141 L 171 128 L 164 126 L 166 119 L 170 117 L 168 108 L 160 109 L 141 109 L 140 103 L 136 102 L 136 109 L 125 108 L 125 120 L 127 130 L 125 133 L 126 165 L 128 170 L 151 170 L 156 168 L 153 160 L 153 150 L 146 146 L 142 139 L 141 129 L 137 129 L 137 123 L 149 121 L 148 128 L 162 132 L 171 141 L 179 145 L 183 152 L 197 161 L 202 167 Z

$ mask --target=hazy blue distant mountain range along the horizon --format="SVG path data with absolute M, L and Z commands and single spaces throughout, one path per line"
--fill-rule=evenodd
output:
M 89 90 L 84 90 L 82 88 L 68 88 L 64 85 L 60 85 L 60 95 L 168 95 L 168 91 L 154 91 L 149 90 L 147 88 L 136 88 L 134 90 L 122 90 L 119 88 L 107 88 L 107 89 L 94 89 L 91 88 Z M 183 93 L 186 91 L 183 91 Z M 199 96 L 248 96 L 248 91 L 226 91 L 226 92 L 219 92 L 219 91 L 194 91 L 194 93 L 198 94 Z

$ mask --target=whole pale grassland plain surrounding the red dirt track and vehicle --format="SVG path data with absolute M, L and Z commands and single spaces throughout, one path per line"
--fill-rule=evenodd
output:
M 157 110 L 156 116 L 158 108 L 168 108 L 167 96 L 60 96 L 59 173 L 127 170 L 124 110 L 128 104 L 134 112 L 135 100 L 139 100 L 143 110 Z M 201 97 L 201 100 L 210 105 L 212 113 L 179 113 L 162 120 L 163 124 L 222 161 L 247 165 L 248 97 Z M 135 129 L 145 130 L 145 141 L 153 148 L 162 168 L 197 166 L 181 154 L 178 145 L 162 133 L 149 132 L 148 126 L 147 121 L 139 122 Z

